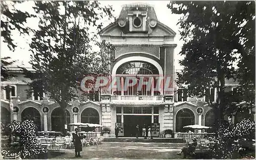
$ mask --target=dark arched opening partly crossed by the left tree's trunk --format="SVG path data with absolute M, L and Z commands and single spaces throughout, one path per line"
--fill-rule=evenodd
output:
M 68 110 L 66 110 L 66 118 L 67 118 L 67 123 L 70 123 L 70 113 Z M 52 123 L 52 130 L 53 131 L 63 131 L 63 126 L 62 123 L 60 123 L 62 120 L 62 115 L 64 115 L 65 113 L 63 112 L 63 110 L 61 108 L 56 108 L 52 111 L 52 115 L 51 115 L 51 123 Z M 70 131 L 71 126 L 68 125 L 68 131 Z

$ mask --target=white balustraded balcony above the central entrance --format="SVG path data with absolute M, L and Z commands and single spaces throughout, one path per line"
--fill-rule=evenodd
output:
M 171 96 L 163 96 L 163 95 L 155 95 L 155 96 L 146 96 L 146 95 L 101 95 L 101 101 L 111 102 L 114 104 L 131 104 L 131 103 L 143 103 L 143 104 L 170 104 L 173 103 L 173 97 Z

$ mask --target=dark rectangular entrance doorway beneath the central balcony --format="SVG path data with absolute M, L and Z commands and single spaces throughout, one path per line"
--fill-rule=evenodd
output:
M 124 137 L 136 137 L 136 125 L 139 125 L 139 137 L 142 137 L 142 128 L 145 125 L 146 130 L 151 126 L 151 116 L 140 115 L 124 115 L 123 116 L 123 129 Z

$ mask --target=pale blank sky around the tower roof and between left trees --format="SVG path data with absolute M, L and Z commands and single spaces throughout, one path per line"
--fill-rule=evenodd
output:
M 180 34 L 179 34 L 179 26 L 177 25 L 177 22 L 180 18 L 180 15 L 172 14 L 170 10 L 166 7 L 169 1 L 99 1 L 102 5 L 112 5 L 114 12 L 113 14 L 118 17 L 120 14 L 120 11 L 122 9 L 122 5 L 124 4 L 130 4 L 130 3 L 147 3 L 151 4 L 155 8 L 155 12 L 157 14 L 158 21 L 164 23 L 167 25 L 170 29 L 176 32 L 176 37 L 174 41 L 177 44 L 177 47 L 175 49 L 175 69 L 182 69 L 182 67 L 179 65 L 178 61 L 183 59 L 184 57 L 179 55 L 179 52 L 181 50 L 181 47 L 183 45 L 183 41 L 180 40 Z M 33 5 L 33 1 L 26 2 L 26 4 L 21 4 L 18 6 L 20 10 L 27 11 L 29 13 L 32 13 L 33 10 L 31 9 Z M 108 25 L 106 22 L 105 25 Z M 28 19 L 27 25 L 29 25 L 31 28 L 35 29 L 38 25 L 38 19 Z M 29 42 L 31 42 L 31 36 L 22 36 L 19 35 L 18 32 L 13 32 L 13 38 L 14 42 L 16 42 L 16 49 L 15 51 L 11 51 L 7 44 L 3 42 L 1 37 L 1 58 L 2 57 L 11 57 L 12 60 L 16 60 L 17 62 L 13 64 L 13 66 L 26 66 L 31 67 L 29 64 L 30 61 L 30 54 L 31 51 L 29 51 Z

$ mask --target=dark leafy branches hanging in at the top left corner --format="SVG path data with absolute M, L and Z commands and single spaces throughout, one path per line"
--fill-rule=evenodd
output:
M 30 28 L 24 25 L 27 18 L 35 17 L 35 15 L 29 14 L 17 10 L 15 5 L 23 3 L 22 1 L 1 1 L 1 37 L 3 42 L 6 42 L 9 49 L 14 51 L 16 44 L 12 37 L 12 31 L 18 30 L 20 34 L 28 35 L 31 31 Z M 12 65 L 15 61 L 8 61 L 10 57 L 1 58 L 1 81 L 6 81 L 10 74 L 6 66 Z

